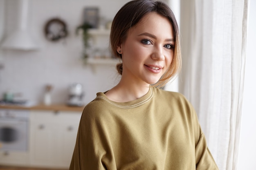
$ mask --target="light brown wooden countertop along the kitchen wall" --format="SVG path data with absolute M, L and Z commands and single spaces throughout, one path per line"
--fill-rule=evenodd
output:
M 18 105 L 0 105 L 0 109 L 19 109 L 19 110 L 54 110 L 54 111 L 75 111 L 83 112 L 85 106 L 67 106 L 65 104 L 52 104 L 45 106 L 44 104 L 38 104 L 35 106 L 18 106 Z

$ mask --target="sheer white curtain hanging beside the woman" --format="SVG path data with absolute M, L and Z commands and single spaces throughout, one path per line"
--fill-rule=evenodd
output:
M 180 92 L 193 104 L 220 170 L 236 170 L 248 0 L 181 0 Z

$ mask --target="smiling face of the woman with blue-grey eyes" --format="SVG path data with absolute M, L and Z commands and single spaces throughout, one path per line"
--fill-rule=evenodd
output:
M 173 48 L 171 22 L 155 12 L 145 15 L 117 47 L 122 54 L 122 79 L 155 84 L 170 66 Z

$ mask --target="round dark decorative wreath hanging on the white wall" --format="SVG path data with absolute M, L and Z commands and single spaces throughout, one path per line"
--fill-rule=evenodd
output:
M 58 41 L 67 37 L 67 26 L 59 18 L 53 18 L 45 24 L 45 36 L 50 41 Z

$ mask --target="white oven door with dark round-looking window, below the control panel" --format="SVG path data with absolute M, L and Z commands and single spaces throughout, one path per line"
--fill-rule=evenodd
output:
M 0 150 L 26 151 L 28 122 L 18 119 L 0 119 Z

